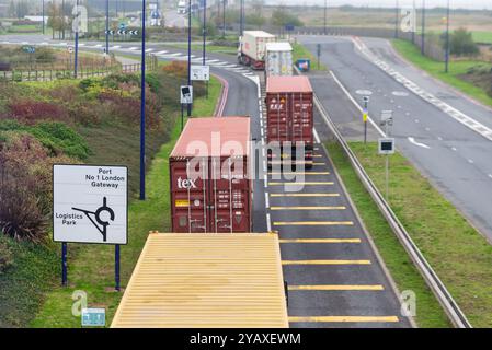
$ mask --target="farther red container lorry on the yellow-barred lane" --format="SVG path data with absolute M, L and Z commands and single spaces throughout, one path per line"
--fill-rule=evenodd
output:
M 282 155 L 268 152 L 270 161 L 291 156 L 299 142 L 305 147 L 306 167 L 312 166 L 313 139 L 313 93 L 307 77 L 270 77 L 266 81 L 267 142 L 279 142 Z M 291 153 L 289 153 L 290 151 Z M 300 160 L 297 160 L 300 161 Z

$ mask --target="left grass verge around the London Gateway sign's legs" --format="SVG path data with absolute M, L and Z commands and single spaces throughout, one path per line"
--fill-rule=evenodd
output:
M 209 97 L 196 100 L 193 116 L 211 115 L 220 94 L 220 83 L 210 80 Z M 122 246 L 122 284 L 131 276 L 149 231 L 170 230 L 170 194 L 168 158 L 180 136 L 181 124 L 174 125 L 171 139 L 162 145 L 147 174 L 147 200 L 134 200 L 128 209 L 128 245 Z M 71 295 L 76 290 L 87 292 L 88 305 L 106 308 L 106 324 L 117 308 L 123 293 L 114 292 L 114 248 L 102 245 L 71 245 L 69 255 L 69 287 L 55 287 L 32 322 L 32 327 L 80 327 L 80 317 L 72 316 Z M 59 262 L 59 261 L 58 261 Z

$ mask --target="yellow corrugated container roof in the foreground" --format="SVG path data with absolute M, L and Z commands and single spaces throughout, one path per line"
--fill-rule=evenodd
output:
M 277 235 L 150 234 L 112 327 L 288 327 Z

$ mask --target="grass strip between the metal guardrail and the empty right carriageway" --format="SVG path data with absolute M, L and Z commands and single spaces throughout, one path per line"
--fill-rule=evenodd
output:
M 377 154 L 377 144 L 350 145 L 376 186 L 384 190 L 385 158 Z M 390 158 L 389 188 L 394 213 L 470 323 L 474 327 L 492 327 L 492 246 L 400 153 Z M 377 241 L 378 234 L 375 236 Z M 378 244 L 382 245 L 386 244 Z M 385 260 L 386 254 L 381 252 Z M 396 280 L 400 279 L 398 270 L 391 272 Z M 421 315 L 421 298 L 417 308 L 419 305 L 419 317 L 427 317 Z

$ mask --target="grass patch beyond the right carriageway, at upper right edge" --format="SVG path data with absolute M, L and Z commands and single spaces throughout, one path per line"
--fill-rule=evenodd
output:
M 460 75 L 466 74 L 470 68 L 483 66 L 483 62 L 472 60 L 451 61 L 449 63 L 449 73 L 445 73 L 443 62 L 422 56 L 420 49 L 412 43 L 405 40 L 392 40 L 392 45 L 401 56 L 417 68 L 426 71 L 432 77 L 456 88 L 485 105 L 492 106 L 492 97 L 487 94 L 487 91 L 460 79 Z

